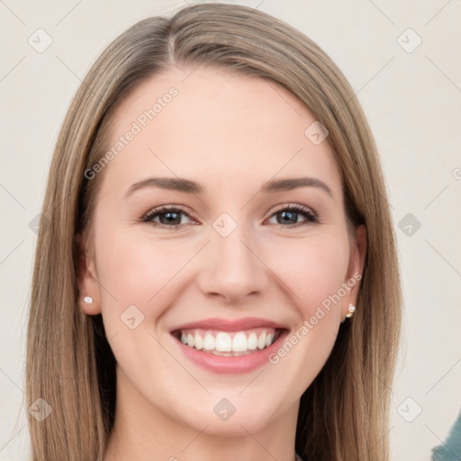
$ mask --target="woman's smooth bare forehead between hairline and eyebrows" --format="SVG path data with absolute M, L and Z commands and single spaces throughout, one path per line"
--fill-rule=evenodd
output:
M 113 149 L 104 175 L 120 186 L 149 173 L 229 189 L 235 181 L 322 176 L 341 194 L 328 137 L 312 142 L 314 115 L 267 79 L 222 68 L 168 68 L 136 87 L 114 115 L 106 148 L 120 149 Z

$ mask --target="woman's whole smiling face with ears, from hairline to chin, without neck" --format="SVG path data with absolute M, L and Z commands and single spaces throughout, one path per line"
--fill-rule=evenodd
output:
M 143 418 L 216 434 L 295 420 L 365 258 L 313 122 L 281 86 L 203 67 L 170 68 L 118 108 L 117 153 L 87 173 L 102 183 L 80 297 Z

